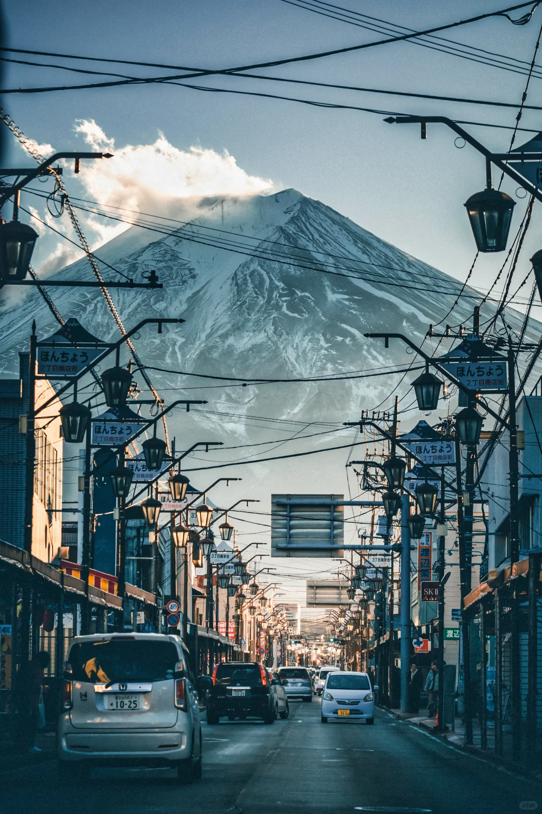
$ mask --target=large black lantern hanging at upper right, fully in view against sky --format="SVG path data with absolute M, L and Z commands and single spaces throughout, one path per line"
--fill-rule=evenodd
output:
M 470 195 L 465 207 L 479 252 L 504 252 L 515 205 L 509 195 L 491 186 Z

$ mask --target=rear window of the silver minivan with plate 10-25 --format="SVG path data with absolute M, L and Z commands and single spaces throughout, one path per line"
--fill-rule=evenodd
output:
M 68 657 L 74 681 L 163 681 L 173 678 L 180 656 L 171 641 L 83 641 Z

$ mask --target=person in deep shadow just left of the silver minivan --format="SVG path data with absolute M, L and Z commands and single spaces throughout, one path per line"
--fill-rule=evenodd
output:
M 15 677 L 10 704 L 11 737 L 21 751 L 41 752 L 34 741 L 40 721 L 45 670 L 49 663 L 49 653 L 41 650 L 32 661 L 20 667 Z

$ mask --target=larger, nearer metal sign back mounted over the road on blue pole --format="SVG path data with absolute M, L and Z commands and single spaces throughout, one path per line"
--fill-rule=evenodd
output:
M 271 495 L 271 557 L 342 557 L 344 495 Z

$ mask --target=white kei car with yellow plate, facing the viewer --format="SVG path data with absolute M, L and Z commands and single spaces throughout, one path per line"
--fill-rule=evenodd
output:
M 333 671 L 327 675 L 322 696 L 322 723 L 337 720 L 365 720 L 375 723 L 375 696 L 366 672 Z

